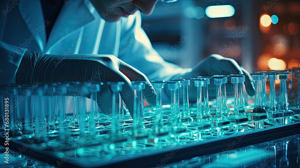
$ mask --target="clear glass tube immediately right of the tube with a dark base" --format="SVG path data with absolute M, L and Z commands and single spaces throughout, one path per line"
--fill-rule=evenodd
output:
M 275 90 L 275 80 L 277 79 L 278 73 L 276 72 L 270 72 L 270 73 L 265 73 L 267 78 L 270 81 L 270 95 L 269 95 L 269 108 L 267 110 L 268 116 L 270 118 L 277 118 L 277 117 L 282 117 L 282 112 L 279 112 L 276 109 L 276 90 Z

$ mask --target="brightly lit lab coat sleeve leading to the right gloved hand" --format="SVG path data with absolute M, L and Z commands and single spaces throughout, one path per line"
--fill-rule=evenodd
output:
M 181 68 L 176 64 L 164 61 L 153 49 L 143 29 L 151 25 L 142 23 L 139 11 L 122 19 L 119 58 L 144 73 L 151 80 L 169 80 L 181 77 L 191 68 Z M 142 28 L 143 27 L 143 28 Z M 164 98 L 164 95 L 163 95 Z

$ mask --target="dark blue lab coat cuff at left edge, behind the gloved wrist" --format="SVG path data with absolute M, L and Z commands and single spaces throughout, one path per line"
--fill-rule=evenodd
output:
M 0 84 L 14 83 L 14 77 L 27 49 L 0 41 Z

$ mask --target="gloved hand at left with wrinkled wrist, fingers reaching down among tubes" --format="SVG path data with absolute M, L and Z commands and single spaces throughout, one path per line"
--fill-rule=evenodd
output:
M 148 82 L 143 89 L 143 95 L 150 105 L 155 106 L 156 93 L 147 77 L 113 55 L 74 54 L 64 56 L 26 52 L 16 73 L 17 83 L 103 82 L 101 91 L 97 93 L 97 103 L 106 114 L 111 113 L 112 109 L 112 91 L 107 82 L 125 82 L 120 94 L 129 112 L 132 113 L 134 92 L 131 81 L 135 80 Z

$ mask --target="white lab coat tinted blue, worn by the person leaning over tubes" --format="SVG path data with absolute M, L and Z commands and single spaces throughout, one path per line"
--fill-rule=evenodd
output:
M 65 1 L 46 41 L 44 26 L 49 21 L 43 18 L 40 1 L 20 0 L 19 4 L 14 5 L 10 0 L 1 0 L 0 7 L 3 13 L 0 15 L 0 41 L 6 43 L 0 43 L 0 57 L 7 55 L 7 51 L 3 49 L 7 44 L 15 46 L 10 50 L 14 54 L 10 54 L 10 57 L 16 60 L 13 62 L 15 66 L 11 67 L 13 72 L 25 49 L 63 56 L 112 54 L 140 70 L 150 81 L 168 80 L 190 71 L 164 61 L 152 48 L 142 29 L 142 26 L 147 29 L 149 25 L 142 25 L 139 11 L 117 22 L 106 22 L 90 1 Z M 13 50 L 17 47 L 25 49 L 18 49 L 16 54 Z M 10 57 L 5 59 L 10 60 Z M 1 64 L 4 62 L 0 62 Z M 2 78 L 5 76 L 0 71 L 0 84 L 7 83 Z

